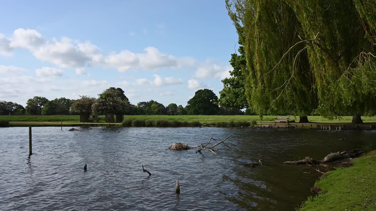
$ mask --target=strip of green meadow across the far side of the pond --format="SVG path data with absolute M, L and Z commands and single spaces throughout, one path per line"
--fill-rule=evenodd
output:
M 229 121 L 257 121 L 260 122 L 259 116 L 205 116 L 205 115 L 192 115 L 192 116 L 169 116 L 169 115 L 136 115 L 136 116 L 124 116 L 125 119 L 141 119 L 144 121 L 156 121 L 159 119 L 167 121 L 188 121 L 188 122 L 200 122 L 201 124 L 215 124 L 217 122 L 229 122 Z M 264 116 L 262 122 L 273 122 L 275 116 Z M 367 117 L 362 116 L 363 122 L 376 122 L 376 116 Z M 0 116 L 0 121 L 5 120 L 9 122 L 79 122 L 80 117 L 78 115 L 66 116 L 35 116 L 35 115 L 21 115 L 21 116 Z M 299 122 L 299 116 L 291 116 L 290 121 Z M 344 116 L 340 119 L 325 119 L 321 116 L 309 116 L 310 122 L 320 123 L 350 123 L 352 116 Z M 99 122 L 105 122 L 105 116 L 99 116 Z

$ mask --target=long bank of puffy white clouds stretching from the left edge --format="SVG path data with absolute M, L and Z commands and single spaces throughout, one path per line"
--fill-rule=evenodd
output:
M 164 29 L 165 25 L 161 24 L 159 28 Z M 50 62 L 59 68 L 75 69 L 80 75 L 86 74 L 85 67 L 88 65 L 116 68 L 119 72 L 125 72 L 130 68 L 156 71 L 161 68 L 182 68 L 195 63 L 192 57 L 176 58 L 155 47 L 146 47 L 144 53 L 123 50 L 104 56 L 89 41 L 72 41 L 69 38 L 47 40 L 33 29 L 16 29 L 12 38 L 0 34 L 0 55 L 11 56 L 14 48 L 27 49 L 41 61 Z

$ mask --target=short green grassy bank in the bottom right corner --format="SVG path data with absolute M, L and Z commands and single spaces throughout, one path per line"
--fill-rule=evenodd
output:
M 321 194 L 309 197 L 299 211 L 376 210 L 376 151 L 356 158 L 353 164 L 327 172 L 315 184 Z

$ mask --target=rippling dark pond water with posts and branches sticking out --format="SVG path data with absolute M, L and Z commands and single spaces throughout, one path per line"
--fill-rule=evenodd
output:
M 0 128 L 0 210 L 294 210 L 320 173 L 284 161 L 376 144 L 376 130 L 68 129 L 33 127 L 28 158 L 29 128 Z M 227 144 L 242 151 L 168 149 L 197 146 L 212 134 L 233 134 Z M 268 166 L 241 163 L 260 157 Z

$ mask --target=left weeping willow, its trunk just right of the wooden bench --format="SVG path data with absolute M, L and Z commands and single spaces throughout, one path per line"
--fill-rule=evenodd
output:
M 318 101 L 307 49 L 298 37 L 302 26 L 293 9 L 276 0 L 226 3 L 246 51 L 250 107 L 261 118 L 291 113 L 307 122 Z

